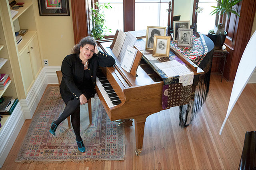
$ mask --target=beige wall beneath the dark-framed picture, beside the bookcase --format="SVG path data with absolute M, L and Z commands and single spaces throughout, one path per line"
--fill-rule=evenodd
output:
M 74 45 L 71 0 L 70 16 L 39 16 L 38 0 L 33 0 L 33 4 L 39 29 L 41 59 L 48 59 L 49 66 L 60 66 Z

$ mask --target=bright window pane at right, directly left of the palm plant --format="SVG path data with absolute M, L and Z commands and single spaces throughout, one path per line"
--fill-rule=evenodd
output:
M 197 31 L 206 35 L 209 30 L 214 29 L 216 14 L 210 14 L 214 10 L 211 6 L 217 6 L 216 0 L 203 0 L 198 3 L 198 7 L 203 9 L 197 14 Z

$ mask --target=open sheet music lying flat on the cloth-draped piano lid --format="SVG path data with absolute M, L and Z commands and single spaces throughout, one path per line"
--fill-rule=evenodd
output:
M 184 64 L 181 64 L 176 60 L 155 63 L 155 65 L 168 77 L 190 73 L 190 70 Z

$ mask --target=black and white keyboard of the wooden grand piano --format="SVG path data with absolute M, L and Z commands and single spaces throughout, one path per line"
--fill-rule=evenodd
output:
M 114 107 L 121 103 L 121 100 L 118 98 L 116 92 L 114 91 L 108 79 L 103 73 L 98 73 L 96 77 L 96 84 L 100 92 L 102 93 L 102 96 L 106 101 L 108 107 Z

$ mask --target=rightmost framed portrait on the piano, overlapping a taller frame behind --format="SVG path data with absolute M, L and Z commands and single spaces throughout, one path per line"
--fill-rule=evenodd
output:
M 192 47 L 193 29 L 178 29 L 178 46 Z

